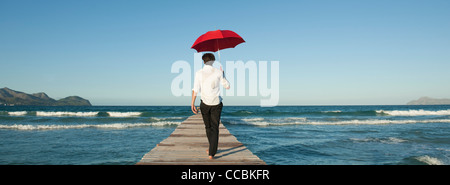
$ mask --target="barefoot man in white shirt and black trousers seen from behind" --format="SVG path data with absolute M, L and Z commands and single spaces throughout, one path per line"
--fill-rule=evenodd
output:
M 230 89 L 230 83 L 225 79 L 222 67 L 220 70 L 212 67 L 216 60 L 212 53 L 204 54 L 202 59 L 205 65 L 195 73 L 191 110 L 194 114 L 198 113 L 194 103 L 197 93 L 201 91 L 200 111 L 209 142 L 207 153 L 209 152 L 209 159 L 214 159 L 219 143 L 219 123 L 223 107 L 222 97 L 220 97 L 220 83 L 226 89 Z

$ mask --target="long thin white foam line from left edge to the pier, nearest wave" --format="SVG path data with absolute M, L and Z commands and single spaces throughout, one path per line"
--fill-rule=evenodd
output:
M 154 123 L 111 123 L 111 124 L 79 124 L 79 125 L 0 125 L 0 129 L 13 130 L 58 130 L 58 129 L 83 129 L 83 128 L 100 128 L 100 129 L 126 129 L 134 127 L 149 126 L 170 126 L 179 125 L 181 122 L 161 121 Z

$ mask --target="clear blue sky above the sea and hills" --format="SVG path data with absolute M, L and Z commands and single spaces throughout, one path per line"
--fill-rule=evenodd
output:
M 221 61 L 279 61 L 279 105 L 450 98 L 449 10 L 448 0 L 0 0 L 0 88 L 189 105 L 171 92 L 172 64 L 193 65 L 197 37 L 222 29 L 246 42 Z

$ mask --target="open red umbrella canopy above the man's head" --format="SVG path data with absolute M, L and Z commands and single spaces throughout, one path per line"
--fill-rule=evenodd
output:
M 231 30 L 215 30 L 198 37 L 191 48 L 197 52 L 216 52 L 221 49 L 234 48 L 243 42 L 245 42 L 244 39 Z

